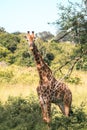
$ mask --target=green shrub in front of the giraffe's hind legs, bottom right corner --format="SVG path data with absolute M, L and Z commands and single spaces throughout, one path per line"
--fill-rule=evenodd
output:
M 73 114 L 70 117 L 54 116 L 51 127 L 52 130 L 86 130 L 87 114 L 84 112 L 86 105 L 73 107 Z

